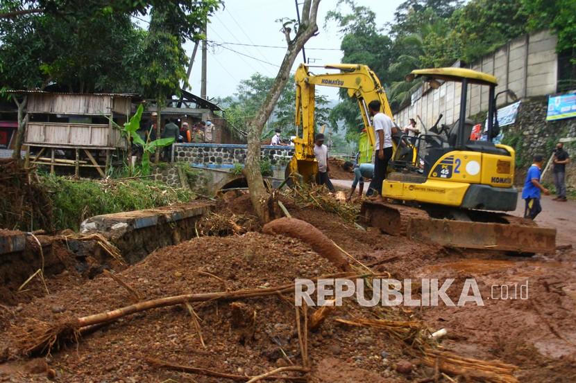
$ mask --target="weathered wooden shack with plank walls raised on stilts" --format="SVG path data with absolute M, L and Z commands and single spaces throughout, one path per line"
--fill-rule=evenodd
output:
M 26 161 L 48 165 L 52 173 L 55 166 L 74 166 L 77 177 L 80 168 L 95 168 L 105 177 L 112 152 L 126 148 L 126 140 L 114 123 L 121 126 L 128 120 L 137 96 L 46 91 L 23 93 L 28 96 L 24 139 L 24 145 L 28 147 Z

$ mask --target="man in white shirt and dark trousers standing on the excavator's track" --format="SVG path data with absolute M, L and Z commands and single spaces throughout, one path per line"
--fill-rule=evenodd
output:
M 368 104 L 372 125 L 376 136 L 374 145 L 374 178 L 369 188 L 375 190 L 376 200 L 382 201 L 382 182 L 386 178 L 388 162 L 392 158 L 392 134 L 398 130 L 394 127 L 392 119 L 380 112 L 382 104 L 378 100 L 372 100 Z

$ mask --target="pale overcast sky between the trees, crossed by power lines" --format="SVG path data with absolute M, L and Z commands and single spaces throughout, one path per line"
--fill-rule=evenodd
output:
M 376 13 L 378 26 L 384 26 L 393 21 L 394 10 L 403 1 L 357 0 L 357 4 L 371 8 Z M 301 7 L 300 5 L 300 10 Z M 325 26 L 327 12 L 336 7 L 337 0 L 322 0 L 320 3 L 317 19 L 319 35 L 312 37 L 305 45 L 306 57 L 310 57 L 311 64 L 312 60 L 318 65 L 339 63 L 341 60 L 342 52 L 339 51 L 341 36 L 337 33 L 333 21 Z M 226 8 L 216 12 L 210 19 L 207 39 L 214 42 L 285 47 L 286 40 L 280 32 L 281 24 L 276 21 L 283 17 L 296 19 L 294 0 L 226 0 Z M 192 54 L 193 47 L 192 42 L 185 45 L 187 55 Z M 314 48 L 330 50 L 314 50 Z M 250 78 L 256 72 L 276 77 L 284 54 L 285 48 L 212 44 L 208 47 L 207 55 L 207 97 L 232 96 L 239 82 Z M 301 62 L 303 62 L 302 53 L 298 55 L 293 70 Z M 316 73 L 321 72 L 317 70 Z M 192 93 L 200 95 L 200 48 L 192 66 L 189 83 L 192 86 Z M 319 87 L 318 90 L 329 99 L 338 98 L 338 89 Z

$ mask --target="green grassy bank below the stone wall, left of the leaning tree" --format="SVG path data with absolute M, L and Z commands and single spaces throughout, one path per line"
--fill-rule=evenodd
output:
M 40 177 L 40 186 L 51 200 L 53 226 L 78 230 L 93 215 L 154 208 L 188 202 L 194 195 L 156 181 L 72 181 L 65 177 Z

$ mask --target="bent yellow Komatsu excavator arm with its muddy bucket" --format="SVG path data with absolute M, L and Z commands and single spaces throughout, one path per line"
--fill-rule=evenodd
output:
M 310 68 L 334 69 L 337 73 L 316 75 Z M 308 66 L 300 64 L 294 76 L 296 80 L 296 127 L 298 133 L 294 139 L 294 157 L 287 167 L 287 179 L 300 175 L 302 181 L 311 181 L 317 172 L 314 158 L 314 109 L 316 85 L 348 89 L 348 96 L 358 103 L 362 121 L 373 146 L 375 143 L 374 129 L 369 118 L 368 105 L 372 100 L 382 104 L 382 112 L 393 118 L 388 99 L 380 80 L 366 65 L 330 64 L 325 66 Z

